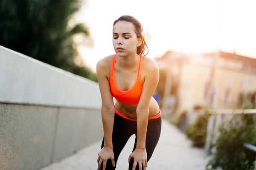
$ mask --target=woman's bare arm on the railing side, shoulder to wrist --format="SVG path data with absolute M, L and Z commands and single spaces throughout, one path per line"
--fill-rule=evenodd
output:
M 148 126 L 149 102 L 159 82 L 159 68 L 156 62 L 150 60 L 145 69 L 145 81 L 140 102 L 137 106 L 137 145 L 136 148 L 145 149 L 145 139 Z

